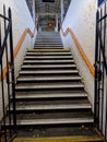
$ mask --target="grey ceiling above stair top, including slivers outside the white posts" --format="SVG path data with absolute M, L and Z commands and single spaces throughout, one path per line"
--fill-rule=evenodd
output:
M 33 3 L 33 0 L 26 0 L 27 3 Z M 43 2 L 43 0 L 35 0 L 35 13 L 38 16 L 39 25 L 41 27 L 48 26 L 48 23 L 56 25 L 56 15 L 61 16 L 61 0 L 55 2 Z M 63 0 L 64 15 L 69 8 L 71 0 Z

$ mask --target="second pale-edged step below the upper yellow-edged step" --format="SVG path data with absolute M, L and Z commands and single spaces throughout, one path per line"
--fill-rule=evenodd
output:
M 72 56 L 25 56 L 24 58 L 25 60 L 29 60 L 29 59 L 43 59 L 43 60 L 70 60 L 73 59 Z

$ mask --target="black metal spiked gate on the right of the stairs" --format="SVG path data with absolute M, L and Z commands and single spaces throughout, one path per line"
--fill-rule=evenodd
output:
M 107 1 L 96 12 L 96 44 L 95 44 L 95 105 L 94 121 L 97 129 L 107 140 Z M 104 122 L 105 120 L 105 122 Z M 105 132 L 104 132 L 105 131 Z

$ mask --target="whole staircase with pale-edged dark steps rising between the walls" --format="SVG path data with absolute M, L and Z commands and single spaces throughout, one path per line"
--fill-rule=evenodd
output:
M 37 35 L 35 47 L 26 52 L 15 90 L 17 137 L 100 140 L 93 128 L 84 83 L 58 33 Z

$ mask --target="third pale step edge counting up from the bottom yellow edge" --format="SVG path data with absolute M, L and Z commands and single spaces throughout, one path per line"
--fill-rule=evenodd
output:
M 16 99 L 55 99 L 55 98 L 87 98 L 87 93 L 85 91 L 73 91 L 73 92 L 16 92 Z

